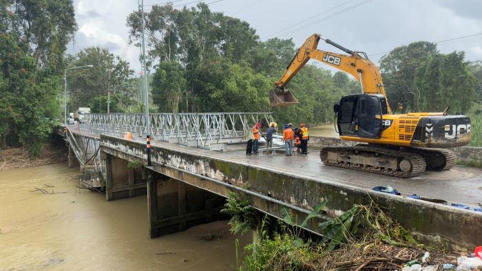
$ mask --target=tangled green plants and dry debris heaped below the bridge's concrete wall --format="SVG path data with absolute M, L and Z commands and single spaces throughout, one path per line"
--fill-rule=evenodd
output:
M 423 265 L 455 263 L 457 258 L 436 248 L 423 246 L 372 202 L 353 208 L 318 225 L 323 237 L 304 232 L 319 216 L 326 201 L 297 224 L 289 210 L 282 220 L 269 218 L 249 206 L 246 199 L 230 193 L 232 199 L 222 210 L 231 215 L 231 232 L 253 230 L 253 243 L 244 247 L 244 261 L 239 270 L 400 270 L 410 261 Z M 426 252 L 430 257 L 422 263 Z

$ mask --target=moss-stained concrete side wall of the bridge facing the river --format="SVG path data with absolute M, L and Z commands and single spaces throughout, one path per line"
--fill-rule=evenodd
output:
M 146 158 L 140 142 L 102 135 L 101 144 L 103 152 L 125 160 Z M 328 199 L 324 212 L 334 217 L 353 204 L 370 204 L 373 199 L 402 226 L 415 230 L 421 241 L 452 250 L 469 250 L 482 243 L 482 214 L 469 210 L 266 170 L 209 154 L 194 155 L 171 146 L 153 147 L 152 161 L 152 170 L 218 195 L 229 197 L 229 190 L 244 193 L 252 206 L 275 217 L 282 217 L 281 210 L 287 206 L 301 221 L 324 199 Z M 306 228 L 317 232 L 317 221 Z

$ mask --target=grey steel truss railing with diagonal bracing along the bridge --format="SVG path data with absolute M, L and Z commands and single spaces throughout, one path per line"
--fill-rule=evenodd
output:
M 269 112 L 151 113 L 149 116 L 154 138 L 164 141 L 178 139 L 181 144 L 197 141 L 200 147 L 244 138 L 256 122 L 266 127 L 273 121 Z M 146 119 L 143 113 L 88 113 L 79 127 L 91 133 L 123 135 L 129 131 L 142 136 L 146 134 Z

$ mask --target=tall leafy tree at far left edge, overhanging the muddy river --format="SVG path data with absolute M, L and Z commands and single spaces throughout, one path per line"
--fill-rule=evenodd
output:
M 0 147 L 39 154 L 60 116 L 63 53 L 75 30 L 72 1 L 0 1 Z

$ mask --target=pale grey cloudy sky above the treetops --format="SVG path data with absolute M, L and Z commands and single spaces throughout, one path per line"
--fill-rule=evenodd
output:
M 145 0 L 151 4 L 167 0 Z M 194 6 L 196 0 L 173 0 L 174 6 Z M 216 3 L 214 3 L 216 2 Z M 262 40 L 293 38 L 297 45 L 320 33 L 350 50 L 364 51 L 376 63 L 392 48 L 412 41 L 443 41 L 443 53 L 463 50 L 470 61 L 482 61 L 482 1 L 480 0 L 206 0 L 213 11 L 247 21 Z M 136 73 L 139 48 L 127 45 L 126 18 L 137 0 L 74 0 L 78 32 L 68 47 L 76 53 L 88 46 L 107 47 L 125 56 Z M 181 6 L 178 8 L 182 8 Z M 474 36 L 472 36 L 474 35 Z M 463 39 L 455 39 L 469 36 Z M 452 41 L 446 41 L 455 39 Z M 339 52 L 320 43 L 319 49 Z

